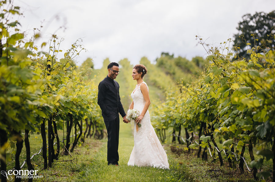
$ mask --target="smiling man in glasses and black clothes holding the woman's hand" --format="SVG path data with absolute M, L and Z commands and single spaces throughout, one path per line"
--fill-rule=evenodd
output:
M 108 65 L 108 75 L 98 85 L 97 104 L 108 133 L 107 161 L 108 165 L 118 165 L 119 154 L 119 114 L 123 121 L 128 123 L 123 106 L 120 102 L 119 84 L 116 79 L 119 74 L 119 65 L 112 62 Z

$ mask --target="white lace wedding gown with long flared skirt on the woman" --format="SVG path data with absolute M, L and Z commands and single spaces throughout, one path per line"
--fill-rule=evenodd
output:
M 141 84 L 147 86 L 145 82 L 142 82 Z M 140 86 L 136 86 L 134 91 L 131 93 L 131 97 L 134 101 L 134 109 L 141 113 L 145 106 L 145 100 Z M 141 127 L 138 128 L 138 131 L 136 130 L 136 127 L 137 124 L 134 123 L 134 148 L 131 152 L 128 166 L 153 166 L 162 169 L 169 169 L 167 155 L 151 124 L 148 110 L 141 120 Z

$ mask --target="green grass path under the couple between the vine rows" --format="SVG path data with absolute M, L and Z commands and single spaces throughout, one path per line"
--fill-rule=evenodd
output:
M 153 167 L 127 166 L 134 146 L 132 123 L 120 120 L 119 166 L 107 165 L 107 139 L 93 160 L 75 178 L 79 181 L 185 181 L 184 168 L 168 156 L 170 170 Z

